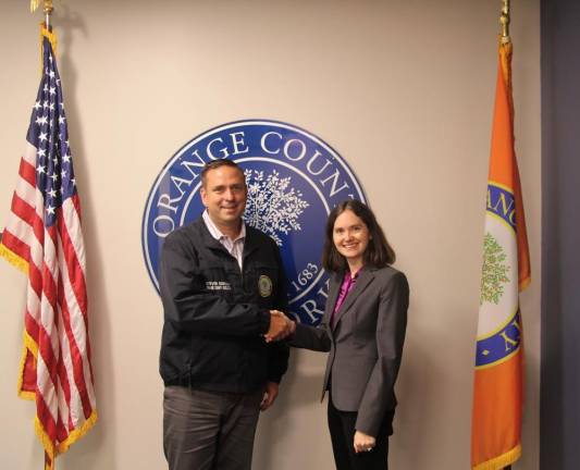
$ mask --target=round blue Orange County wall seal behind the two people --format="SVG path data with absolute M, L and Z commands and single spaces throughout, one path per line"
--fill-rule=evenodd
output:
M 365 195 L 343 158 L 319 137 L 269 120 L 237 121 L 188 141 L 163 166 L 147 198 L 143 250 L 159 292 L 159 257 L 164 238 L 203 212 L 199 189 L 203 165 L 234 160 L 244 170 L 248 199 L 244 220 L 280 247 L 287 279 L 289 314 L 318 324 L 329 276 L 320 259 L 326 218 L 346 199 Z

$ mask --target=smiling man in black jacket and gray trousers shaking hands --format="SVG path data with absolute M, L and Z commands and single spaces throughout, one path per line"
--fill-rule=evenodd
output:
M 201 172 L 202 217 L 168 236 L 160 373 L 171 470 L 249 470 L 259 410 L 274 403 L 289 331 L 275 243 L 242 220 L 247 188 L 231 160 Z

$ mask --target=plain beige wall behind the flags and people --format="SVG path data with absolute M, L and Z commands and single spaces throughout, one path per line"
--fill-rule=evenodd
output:
M 7 4 L 8 3 L 8 4 Z M 515 2 L 517 151 L 534 282 L 526 323 L 525 456 L 539 468 L 539 1 Z M 62 470 L 159 469 L 159 298 L 140 247 L 149 188 L 195 135 L 247 118 L 321 136 L 362 182 L 412 289 L 391 462 L 469 466 L 496 33 L 483 0 L 55 2 L 53 23 L 85 217 L 99 424 Z M 38 84 L 38 15 L 1 2 L 0 224 Z M 0 225 L 1 226 L 1 225 Z M 0 263 L 2 468 L 39 469 L 34 407 L 16 398 L 24 279 Z M 331 469 L 324 357 L 294 352 L 260 421 L 255 468 Z

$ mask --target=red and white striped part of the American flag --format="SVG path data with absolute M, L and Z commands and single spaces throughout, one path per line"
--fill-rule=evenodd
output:
M 45 226 L 44 211 L 36 148 L 27 144 L 2 245 L 4 255 L 8 250 L 28 268 L 25 336 L 30 354 L 21 392 L 34 394 L 37 431 L 53 459 L 90 429 L 97 415 L 78 196 L 63 202 L 52 226 Z M 34 389 L 25 388 L 29 383 Z

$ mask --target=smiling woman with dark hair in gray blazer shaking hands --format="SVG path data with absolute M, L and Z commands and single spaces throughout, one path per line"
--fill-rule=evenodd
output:
M 292 325 L 292 346 L 330 351 L 323 394 L 338 470 L 387 468 L 409 302 L 394 261 L 372 211 L 340 203 L 326 222 L 322 265 L 331 281 L 321 325 Z

